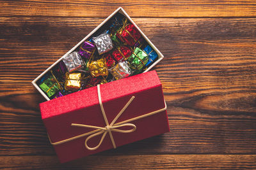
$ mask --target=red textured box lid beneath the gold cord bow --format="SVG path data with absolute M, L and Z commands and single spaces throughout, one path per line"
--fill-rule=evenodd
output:
M 162 85 L 156 71 L 149 71 L 100 85 L 100 95 L 109 124 L 129 99 L 132 96 L 135 97 L 115 124 L 139 117 L 137 120 L 126 122 L 127 124 L 136 125 L 136 130 L 126 133 L 111 131 L 116 147 L 170 131 L 166 110 L 164 110 L 166 104 L 163 98 Z M 86 133 L 92 133 L 95 129 L 71 125 L 82 124 L 106 127 L 106 122 L 100 110 L 97 87 L 84 89 L 41 103 L 40 110 L 49 139 L 53 145 L 65 139 L 78 137 L 54 145 L 60 162 L 67 162 L 113 148 L 110 134 L 107 131 L 99 148 L 88 150 L 84 143 L 86 138 L 93 134 L 87 135 Z M 147 115 L 152 111 L 160 112 Z M 147 116 L 140 117 L 142 115 Z M 131 127 L 118 127 L 116 129 L 129 130 Z M 103 130 L 99 131 L 103 132 Z M 101 138 L 102 134 L 89 139 L 87 141 L 88 146 L 97 146 Z

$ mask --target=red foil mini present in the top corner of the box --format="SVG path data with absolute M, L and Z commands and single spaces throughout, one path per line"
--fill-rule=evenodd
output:
M 141 38 L 140 32 L 133 24 L 128 24 L 123 30 L 118 31 L 116 36 L 129 46 L 133 46 Z

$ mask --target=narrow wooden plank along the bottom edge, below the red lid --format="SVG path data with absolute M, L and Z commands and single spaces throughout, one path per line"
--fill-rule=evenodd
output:
M 53 156 L 0 157 L 1 169 L 255 169 L 256 155 L 90 156 L 60 164 Z

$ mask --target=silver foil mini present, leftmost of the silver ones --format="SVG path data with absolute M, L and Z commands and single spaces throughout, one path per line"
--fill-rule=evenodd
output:
M 77 69 L 83 69 L 84 63 L 78 52 L 72 52 L 64 57 L 63 62 L 67 67 L 68 72 L 76 71 Z

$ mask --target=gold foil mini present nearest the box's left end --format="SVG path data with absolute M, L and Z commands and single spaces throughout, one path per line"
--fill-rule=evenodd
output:
M 65 90 L 76 92 L 81 89 L 81 73 L 66 73 Z

